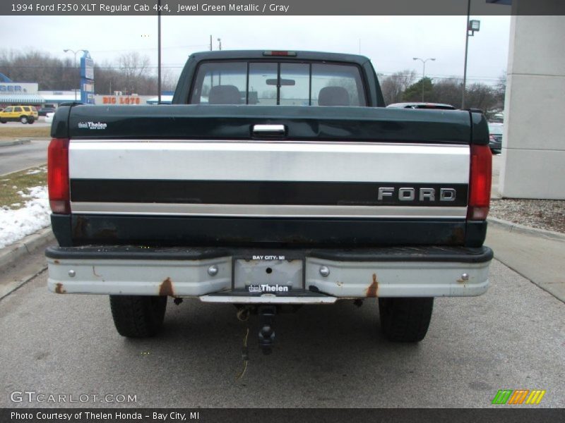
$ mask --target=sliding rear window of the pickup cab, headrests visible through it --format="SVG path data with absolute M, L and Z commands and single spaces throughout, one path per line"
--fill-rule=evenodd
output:
M 208 61 L 194 81 L 190 104 L 367 105 L 359 68 L 350 64 Z

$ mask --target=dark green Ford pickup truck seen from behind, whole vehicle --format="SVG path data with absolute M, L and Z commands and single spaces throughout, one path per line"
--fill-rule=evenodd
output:
M 257 312 L 379 299 L 394 341 L 434 297 L 487 290 L 487 122 L 386 109 L 363 56 L 210 51 L 172 105 L 61 106 L 49 145 L 49 290 L 109 295 L 123 336 L 167 297 Z M 297 308 L 297 307 L 290 307 Z

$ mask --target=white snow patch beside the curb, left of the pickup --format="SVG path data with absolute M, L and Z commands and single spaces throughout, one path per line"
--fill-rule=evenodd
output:
M 30 199 L 23 208 L 0 209 L 0 248 L 13 244 L 50 223 L 47 187 L 33 187 L 28 191 L 29 194 L 22 195 Z

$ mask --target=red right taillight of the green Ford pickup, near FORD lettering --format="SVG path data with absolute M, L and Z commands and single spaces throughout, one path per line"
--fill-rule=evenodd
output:
M 484 220 L 489 214 L 492 153 L 488 145 L 471 145 L 467 219 Z

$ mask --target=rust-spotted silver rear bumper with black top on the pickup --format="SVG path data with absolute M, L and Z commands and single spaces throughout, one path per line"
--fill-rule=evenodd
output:
M 246 250 L 144 247 L 50 247 L 48 288 L 53 293 L 171 295 L 205 302 L 332 303 L 344 298 L 481 295 L 489 286 L 488 247 L 410 247 L 362 250 L 269 251 L 302 261 L 291 277 L 288 259 L 234 275 Z M 278 269 L 282 269 L 278 271 Z M 288 277 L 287 277 L 288 276 Z M 276 278 L 276 279 L 270 279 Z M 282 278 L 282 279 L 281 279 Z M 249 285 L 288 281 L 283 293 L 249 293 Z

